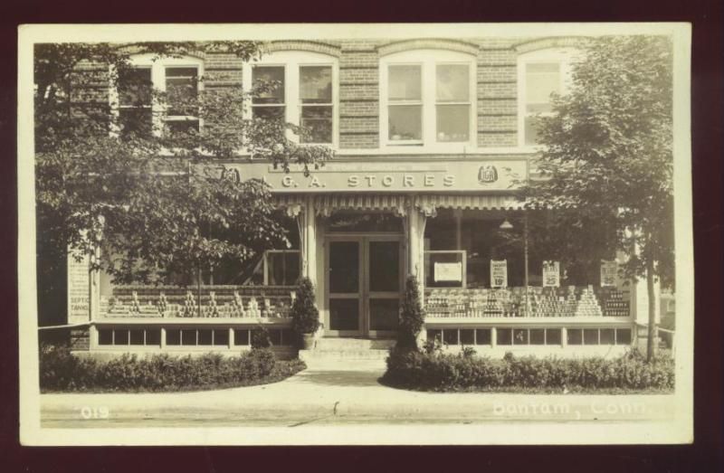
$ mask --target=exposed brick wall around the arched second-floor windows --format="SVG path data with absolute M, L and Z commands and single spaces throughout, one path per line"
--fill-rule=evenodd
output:
M 518 144 L 518 71 L 520 53 L 548 47 L 572 46 L 575 38 L 496 38 L 479 40 L 286 40 L 265 43 L 263 51 L 321 52 L 338 58 L 339 146 L 342 149 L 379 147 L 380 56 L 409 49 L 444 49 L 476 57 L 477 141 L 479 147 L 515 147 Z M 238 86 L 243 62 L 225 53 L 205 55 L 205 87 Z M 102 64 L 81 64 L 85 86 L 78 92 L 79 106 L 107 104 L 107 69 Z

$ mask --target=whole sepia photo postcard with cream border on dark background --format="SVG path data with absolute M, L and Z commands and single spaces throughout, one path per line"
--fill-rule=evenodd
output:
M 24 445 L 693 440 L 690 24 L 18 36 Z

